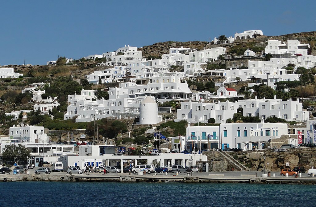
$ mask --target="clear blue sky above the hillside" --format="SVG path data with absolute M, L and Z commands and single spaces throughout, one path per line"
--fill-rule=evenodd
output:
M 46 64 L 165 41 L 209 41 L 260 29 L 315 31 L 316 1 L 3 1 L 0 65 Z

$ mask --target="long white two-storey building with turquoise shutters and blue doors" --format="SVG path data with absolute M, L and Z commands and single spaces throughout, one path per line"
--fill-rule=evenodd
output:
M 288 134 L 288 125 L 283 123 L 222 123 L 220 126 L 186 128 L 185 144 L 188 151 L 199 149 L 224 149 L 240 147 L 262 149 L 271 138 Z M 193 148 L 192 148 L 193 143 Z M 297 144 L 297 140 L 296 140 Z

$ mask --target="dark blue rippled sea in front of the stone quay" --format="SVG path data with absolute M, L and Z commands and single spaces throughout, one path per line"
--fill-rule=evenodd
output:
M 314 185 L 1 182 L 0 206 L 316 206 Z

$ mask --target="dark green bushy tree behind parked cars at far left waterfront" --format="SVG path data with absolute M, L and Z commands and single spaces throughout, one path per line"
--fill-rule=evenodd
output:
M 2 158 L 6 162 L 11 163 L 23 163 L 27 162 L 27 158 L 30 156 L 30 151 L 23 145 L 5 145 L 2 153 Z

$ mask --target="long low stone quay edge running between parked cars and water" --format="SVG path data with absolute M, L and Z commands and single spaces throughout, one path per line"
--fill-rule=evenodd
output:
M 51 174 L 18 174 L 1 176 L 0 182 L 16 181 L 66 181 L 66 182 L 183 182 L 183 183 L 252 183 L 252 184 L 297 184 L 316 185 L 316 177 L 255 177 L 253 175 L 224 176 L 223 174 L 210 174 L 209 176 L 187 175 L 51 175 Z

